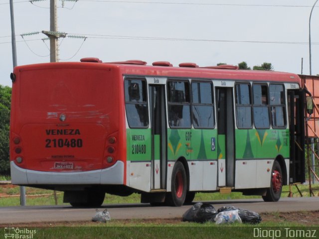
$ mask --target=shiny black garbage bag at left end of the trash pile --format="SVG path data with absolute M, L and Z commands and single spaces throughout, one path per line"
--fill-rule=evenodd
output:
M 211 204 L 196 203 L 183 214 L 184 222 L 204 223 L 214 221 L 216 209 Z

